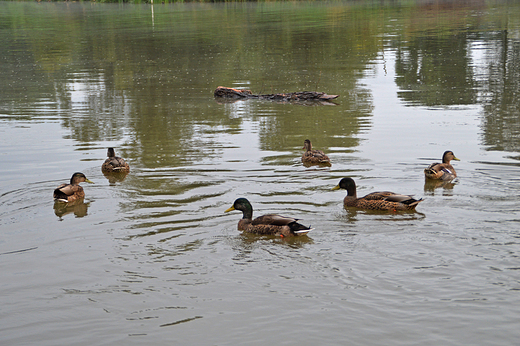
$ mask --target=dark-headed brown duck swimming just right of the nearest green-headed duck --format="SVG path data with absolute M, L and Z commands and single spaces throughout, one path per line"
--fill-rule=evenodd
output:
M 345 189 L 347 196 L 343 200 L 345 207 L 370 210 L 413 210 L 422 201 L 409 195 L 400 195 L 390 191 L 372 192 L 357 198 L 356 183 L 352 178 L 343 178 L 332 190 Z

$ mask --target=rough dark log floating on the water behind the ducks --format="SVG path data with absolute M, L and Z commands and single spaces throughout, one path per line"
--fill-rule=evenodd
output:
M 330 100 L 333 100 L 333 99 L 339 97 L 339 95 L 327 95 L 325 93 L 317 92 L 317 91 L 299 91 L 299 92 L 295 92 L 295 93 L 257 95 L 257 94 L 253 94 L 253 92 L 251 90 L 226 88 L 226 87 L 222 87 L 222 86 L 219 86 L 215 90 L 214 95 L 215 95 L 215 97 L 231 98 L 231 99 L 254 98 L 254 99 L 282 101 L 282 102 L 330 101 Z

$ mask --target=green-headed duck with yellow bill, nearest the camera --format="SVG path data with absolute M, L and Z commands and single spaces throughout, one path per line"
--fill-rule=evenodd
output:
M 243 214 L 242 219 L 238 221 L 239 231 L 282 238 L 305 235 L 312 231 L 312 228 L 299 224 L 298 219 L 276 214 L 262 215 L 253 220 L 253 207 L 245 198 L 238 198 L 225 213 L 233 210 L 240 210 Z

